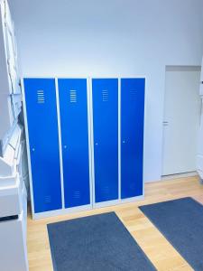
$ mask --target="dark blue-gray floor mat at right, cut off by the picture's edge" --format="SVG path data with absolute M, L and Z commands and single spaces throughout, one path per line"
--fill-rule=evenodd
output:
M 196 271 L 203 270 L 203 206 L 191 198 L 139 207 Z

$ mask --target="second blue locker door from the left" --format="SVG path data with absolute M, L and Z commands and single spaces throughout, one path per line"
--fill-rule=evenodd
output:
M 87 79 L 59 79 L 66 208 L 90 203 Z

